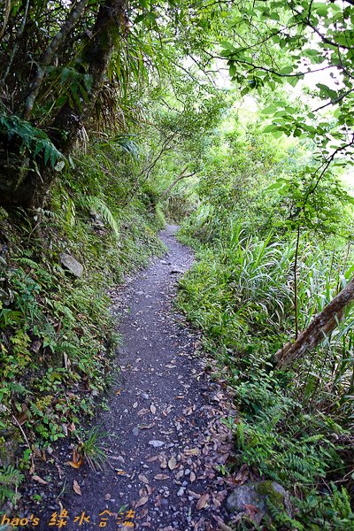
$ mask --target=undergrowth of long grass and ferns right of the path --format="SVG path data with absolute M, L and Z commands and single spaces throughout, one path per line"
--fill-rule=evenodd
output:
M 240 135 L 244 145 L 259 150 L 261 135 L 254 146 L 251 135 Z M 195 247 L 196 263 L 181 280 L 178 304 L 203 331 L 219 378 L 233 389 L 238 416 L 224 419 L 235 434 L 230 472 L 245 464 L 256 477 L 278 481 L 292 494 L 292 518 L 273 507 L 273 528 L 353 529 L 353 306 L 294 366 L 279 369 L 274 358 L 293 339 L 296 323 L 300 330 L 308 327 L 352 278 L 352 213 L 322 192 L 328 224 L 330 212 L 342 212 L 342 222 L 326 237 L 320 226 L 303 224 L 297 239 L 287 224 L 289 196 L 286 204 L 281 195 L 273 196 L 269 175 L 281 162 L 281 176 L 290 181 L 294 148 L 275 161 L 272 142 L 268 150 L 266 142 L 262 150 L 272 164 L 259 178 L 252 173 L 252 158 L 243 165 L 241 151 L 240 164 L 232 159 L 235 173 L 224 165 L 219 177 L 214 173 L 201 181 L 202 204 L 180 233 Z M 234 189 L 240 173 L 244 187 L 235 188 L 238 197 L 230 203 L 227 190 Z M 248 204 L 261 208 L 247 212 Z M 254 528 L 251 522 L 243 525 Z

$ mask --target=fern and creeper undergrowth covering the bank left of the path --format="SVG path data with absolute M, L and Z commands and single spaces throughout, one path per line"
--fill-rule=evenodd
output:
M 16 501 L 34 448 L 75 439 L 93 416 L 118 370 L 108 289 L 164 250 L 156 236 L 163 214 L 149 191 L 121 207 L 134 160 L 119 145 L 94 148 L 72 158 L 35 223 L 22 211 L 0 212 L 2 502 Z M 81 263 L 80 278 L 63 253 Z M 82 443 L 92 461 L 94 435 Z

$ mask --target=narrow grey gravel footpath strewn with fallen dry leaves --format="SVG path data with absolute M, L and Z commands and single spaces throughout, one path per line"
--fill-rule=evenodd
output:
M 167 255 L 130 283 L 129 307 L 122 312 L 117 296 L 112 308 L 123 313 L 120 381 L 110 410 L 98 419 L 111 434 L 106 451 L 112 466 L 96 473 L 87 464 L 69 472 L 65 466 L 65 529 L 219 528 L 215 517 L 222 516 L 227 492 L 218 467 L 232 443 L 219 422 L 224 392 L 204 375 L 198 337 L 173 312 L 176 277 L 193 261 L 174 238 L 176 228 L 161 235 Z M 73 492 L 74 480 L 81 496 Z M 41 520 L 43 529 L 56 528 L 49 526 L 50 513 Z

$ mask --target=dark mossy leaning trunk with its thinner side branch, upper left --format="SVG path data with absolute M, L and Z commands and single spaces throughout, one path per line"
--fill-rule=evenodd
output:
M 122 38 L 122 32 L 127 27 L 126 4 L 126 0 L 104 0 L 99 4 L 93 27 L 81 37 L 81 54 L 74 63 L 78 73 L 89 76 L 90 86 L 87 89 L 87 95 L 79 101 L 65 94 L 60 95 L 58 91 L 62 104 L 53 116 L 47 117 L 46 121 L 49 125 L 46 127 L 46 134 L 50 142 L 63 155 L 68 155 L 73 150 L 73 144 L 81 128 L 88 123 L 92 115 L 96 98 L 110 65 L 114 44 Z M 81 0 L 81 5 L 83 5 L 83 0 Z M 73 12 L 70 15 L 73 17 Z M 75 16 L 79 19 L 77 13 Z M 65 24 L 67 25 L 67 19 L 63 27 Z M 55 39 L 58 40 L 58 34 L 53 41 Z M 65 46 L 65 42 L 62 42 L 61 46 Z M 65 61 L 67 61 L 65 50 L 61 53 L 63 54 L 63 67 L 65 67 Z M 37 120 L 32 119 L 31 113 L 35 108 L 46 68 L 50 66 L 51 60 L 58 62 L 58 58 L 60 60 L 61 57 L 59 54 L 54 58 L 54 55 L 48 58 L 48 49 L 42 54 L 43 64 L 38 67 L 32 79 L 29 79 L 27 91 L 21 90 L 21 93 L 26 93 L 27 97 L 22 97 L 22 108 L 19 105 L 18 116 L 20 119 L 28 120 L 33 127 L 37 127 Z M 38 71 L 41 72 L 40 76 Z M 12 112 L 11 116 L 15 114 Z M 42 154 L 24 150 L 20 136 L 6 135 L 4 131 L 0 131 L 0 205 L 24 208 L 41 206 L 50 185 L 57 177 L 58 172 L 48 164 L 48 161 L 44 160 Z

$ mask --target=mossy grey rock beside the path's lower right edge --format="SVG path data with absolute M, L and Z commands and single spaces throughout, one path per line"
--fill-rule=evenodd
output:
M 244 512 L 245 505 L 258 507 L 262 514 L 269 514 L 267 501 L 280 505 L 291 517 L 289 493 L 276 481 L 259 481 L 236 487 L 227 497 L 228 512 Z

